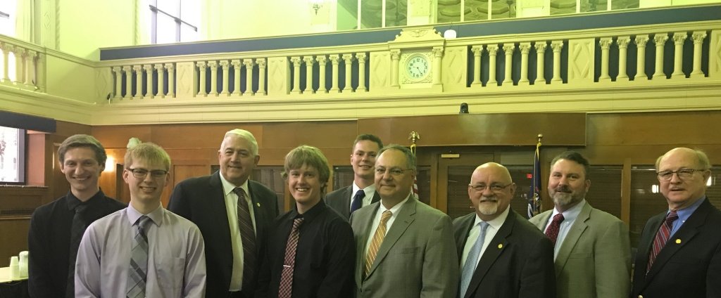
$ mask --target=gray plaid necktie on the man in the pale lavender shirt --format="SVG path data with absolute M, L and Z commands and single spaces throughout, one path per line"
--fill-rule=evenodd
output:
M 145 297 L 145 286 L 148 278 L 148 227 L 153 222 L 146 215 L 138 218 L 133 233 L 131 249 L 131 268 L 128 271 L 127 298 Z

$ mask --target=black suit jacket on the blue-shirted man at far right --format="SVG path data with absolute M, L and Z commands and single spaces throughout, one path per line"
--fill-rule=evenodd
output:
M 721 211 L 703 200 L 646 274 L 653 239 L 666 212 L 648 220 L 638 245 L 631 297 L 721 297 Z

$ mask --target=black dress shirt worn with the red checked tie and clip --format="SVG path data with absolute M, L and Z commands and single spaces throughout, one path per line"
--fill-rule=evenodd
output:
M 293 209 L 275 219 L 262 266 L 256 297 L 278 297 L 286 243 L 293 220 L 304 217 L 298 228 L 293 269 L 293 298 L 353 297 L 355 293 L 355 240 L 350 224 L 323 200 L 300 215 Z

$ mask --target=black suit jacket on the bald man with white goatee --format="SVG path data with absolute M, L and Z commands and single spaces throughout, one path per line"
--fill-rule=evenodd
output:
M 453 222 L 459 263 L 475 220 L 476 214 L 471 213 Z M 478 262 L 464 298 L 470 297 L 556 297 L 551 240 L 509 210 Z

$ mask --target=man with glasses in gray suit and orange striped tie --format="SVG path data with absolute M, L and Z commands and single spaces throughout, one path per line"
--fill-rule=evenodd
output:
M 379 151 L 375 183 L 381 201 L 350 216 L 358 298 L 456 297 L 458 253 L 451 218 L 415 199 L 415 171 L 408 148 L 389 145 Z

